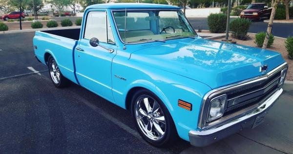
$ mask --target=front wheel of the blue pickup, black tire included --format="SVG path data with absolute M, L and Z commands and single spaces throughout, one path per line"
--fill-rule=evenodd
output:
M 146 89 L 136 92 L 131 101 L 131 113 L 138 132 L 151 145 L 169 147 L 178 139 L 170 113 L 152 92 Z

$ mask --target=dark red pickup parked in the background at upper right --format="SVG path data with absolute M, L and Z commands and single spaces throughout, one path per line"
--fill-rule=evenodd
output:
M 270 18 L 271 13 L 272 7 L 268 8 L 266 3 L 252 3 L 241 11 L 240 18 L 261 20 L 264 17 Z

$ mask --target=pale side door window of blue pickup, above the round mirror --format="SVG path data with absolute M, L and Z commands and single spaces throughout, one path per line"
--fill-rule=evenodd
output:
M 99 11 L 89 12 L 86 18 L 84 39 L 97 38 L 101 42 L 107 42 L 106 13 Z

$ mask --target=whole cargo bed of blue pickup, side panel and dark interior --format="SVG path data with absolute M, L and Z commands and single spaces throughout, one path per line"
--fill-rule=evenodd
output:
M 63 76 L 77 83 L 74 67 L 74 49 L 78 43 L 80 28 L 36 31 L 33 39 L 36 57 L 46 64 L 54 55 Z

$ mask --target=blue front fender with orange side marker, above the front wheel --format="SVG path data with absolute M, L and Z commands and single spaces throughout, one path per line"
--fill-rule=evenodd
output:
M 126 96 L 130 89 L 146 88 L 163 101 L 178 135 L 189 141 L 188 132 L 197 129 L 202 98 L 211 90 L 208 85 L 132 60 L 120 61 L 119 58 L 113 60 L 112 76 L 112 92 L 118 106 L 126 109 Z M 192 110 L 179 107 L 178 99 L 191 103 Z

